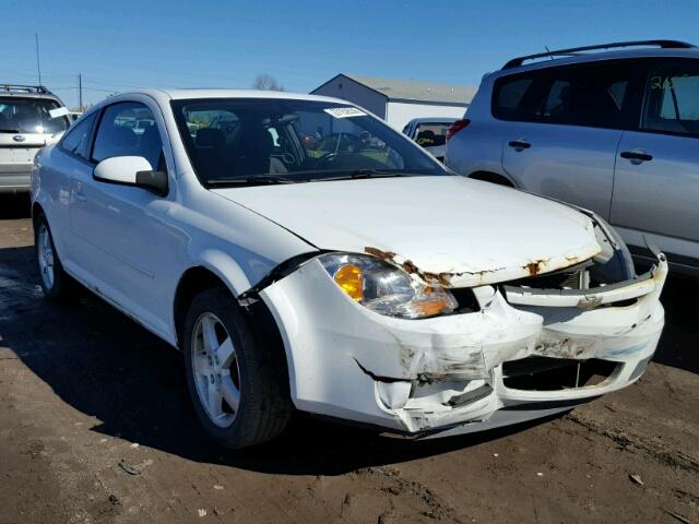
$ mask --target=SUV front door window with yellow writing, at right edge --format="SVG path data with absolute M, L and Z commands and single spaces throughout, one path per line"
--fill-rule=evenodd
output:
M 651 69 L 641 127 L 699 136 L 699 67 L 677 63 Z

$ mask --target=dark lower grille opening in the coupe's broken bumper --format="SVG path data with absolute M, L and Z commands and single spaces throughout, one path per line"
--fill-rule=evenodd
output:
M 502 364 L 506 388 L 524 391 L 560 391 L 600 385 L 623 365 L 591 358 L 526 357 Z

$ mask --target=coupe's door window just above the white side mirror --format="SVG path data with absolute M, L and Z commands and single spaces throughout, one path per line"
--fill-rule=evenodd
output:
M 165 170 L 161 133 L 153 112 L 143 104 L 122 102 L 105 109 L 92 159 L 102 162 L 112 156 L 142 156 L 153 169 Z

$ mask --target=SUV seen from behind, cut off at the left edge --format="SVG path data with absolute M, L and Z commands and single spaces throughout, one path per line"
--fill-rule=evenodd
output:
M 68 115 L 46 87 L 0 84 L 0 193 L 29 191 L 34 156 L 68 129 Z

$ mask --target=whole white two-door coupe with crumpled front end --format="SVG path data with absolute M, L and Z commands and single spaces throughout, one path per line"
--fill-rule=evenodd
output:
M 664 322 L 662 253 L 637 276 L 593 213 L 334 98 L 110 97 L 37 155 L 32 210 L 46 296 L 78 281 L 182 350 L 229 448 L 294 408 L 414 438 L 570 409 L 636 381 Z

